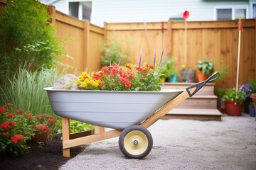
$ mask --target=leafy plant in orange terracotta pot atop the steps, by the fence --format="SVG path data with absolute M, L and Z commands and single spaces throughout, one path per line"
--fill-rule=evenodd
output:
M 197 69 L 201 71 L 203 74 L 210 75 L 214 72 L 214 64 L 210 62 L 208 59 L 199 60 L 197 62 Z

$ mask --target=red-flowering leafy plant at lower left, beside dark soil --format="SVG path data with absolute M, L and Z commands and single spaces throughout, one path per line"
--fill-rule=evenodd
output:
M 0 106 L 0 154 L 23 154 L 36 133 L 51 132 L 55 120 L 50 115 L 33 116 L 11 103 Z

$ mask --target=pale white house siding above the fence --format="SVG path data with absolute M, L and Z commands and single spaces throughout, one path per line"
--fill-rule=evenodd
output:
M 52 5 L 68 14 L 68 2 L 59 0 Z M 78 1 L 78 0 L 77 0 Z M 168 21 L 183 11 L 189 11 L 188 21 L 213 21 L 215 6 L 248 6 L 248 1 L 204 0 L 92 0 L 91 23 Z

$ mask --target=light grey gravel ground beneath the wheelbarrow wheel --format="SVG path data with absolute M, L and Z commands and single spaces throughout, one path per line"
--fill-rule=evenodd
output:
M 114 137 L 86 145 L 60 169 L 256 169 L 256 121 L 247 114 L 158 120 L 148 130 L 154 144 L 144 159 L 124 157 Z

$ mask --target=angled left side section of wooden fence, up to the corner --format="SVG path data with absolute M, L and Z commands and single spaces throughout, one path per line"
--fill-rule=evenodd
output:
M 48 13 L 53 16 L 50 23 L 55 24 L 60 40 L 69 57 L 61 57 L 68 64 L 68 72 L 81 72 L 85 69 L 100 69 L 100 43 L 104 38 L 104 29 L 92 25 L 89 21 L 79 21 L 49 6 Z M 60 67 L 63 69 L 63 67 Z

